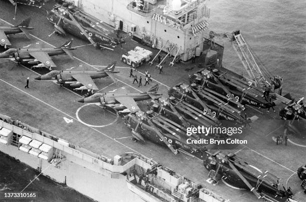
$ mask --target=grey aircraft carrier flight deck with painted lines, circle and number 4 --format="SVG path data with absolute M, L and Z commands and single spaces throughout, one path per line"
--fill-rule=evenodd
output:
M 51 2 L 46 2 L 46 7 L 51 7 Z M 160 84 L 158 93 L 163 93 L 167 97 L 167 91 L 178 83 L 189 83 L 188 74 L 198 70 L 198 64 L 203 63 L 201 59 L 168 66 L 171 59 L 166 58 L 163 65 L 163 72 L 152 66 L 144 64 L 138 71 L 134 71 L 137 76 L 142 76 L 142 86 L 132 84 L 133 78 L 129 77 L 130 66 L 120 61 L 121 55 L 135 46 L 148 49 L 147 46 L 136 41 L 126 39 L 122 49 L 117 45 L 113 51 L 107 49 L 95 49 L 87 41 L 80 40 L 69 34 L 67 36 L 48 36 L 53 31 L 52 24 L 46 19 L 44 9 L 35 7 L 19 7 L 16 19 L 14 17 L 14 7 L 9 2 L 0 2 L 0 26 L 15 24 L 22 19 L 31 17 L 30 25 L 34 27 L 30 30 L 31 39 L 24 35 L 11 35 L 9 40 L 11 47 L 57 47 L 65 40 L 73 38 L 72 47 L 74 59 L 68 55 L 53 56 L 52 60 L 57 65 L 56 70 L 100 70 L 107 64 L 116 61 L 115 74 L 116 82 L 110 78 L 96 79 L 99 92 L 114 91 L 117 88 L 125 88 L 129 92 L 146 92 L 152 85 Z M 153 55 L 156 49 L 150 48 Z M 1 52 L 4 48 L 1 47 Z M 193 68 L 192 68 L 193 67 Z M 149 85 L 143 86 L 144 71 L 150 72 L 153 81 Z M 131 130 L 124 124 L 121 117 L 108 110 L 102 109 L 94 103 L 79 103 L 78 99 L 83 98 L 80 92 L 72 88 L 61 87 L 53 82 L 35 80 L 36 76 L 47 73 L 45 68 L 30 69 L 14 61 L 0 60 L 0 113 L 13 119 L 20 120 L 41 131 L 53 134 L 58 138 L 83 147 L 96 154 L 113 157 L 124 152 L 139 153 L 154 161 L 175 169 L 177 173 L 186 178 L 204 184 L 207 188 L 221 196 L 227 196 L 232 202 L 255 202 L 257 199 L 251 192 L 234 190 L 228 188 L 223 183 L 216 186 L 206 183 L 208 171 L 198 158 L 192 158 L 184 153 L 174 155 L 171 151 L 149 141 L 144 143 L 132 140 Z M 29 77 L 29 88 L 24 88 L 26 78 Z M 86 91 L 86 90 L 85 90 Z M 285 88 L 284 90 L 285 91 Z M 147 101 L 140 101 L 139 107 L 147 109 Z M 246 125 L 243 129 L 243 137 L 247 140 L 247 146 L 237 146 L 233 150 L 224 150 L 222 153 L 234 153 L 246 160 L 248 164 L 256 168 L 263 168 L 277 175 L 281 180 L 280 184 L 285 185 L 287 179 L 296 169 L 305 162 L 306 140 L 290 138 L 286 149 L 279 147 L 272 140 L 273 136 L 283 134 L 283 120 L 279 118 L 278 111 L 282 106 L 276 106 L 275 111 L 258 109 L 246 106 L 245 112 L 248 116 L 256 115 L 258 120 L 250 123 L 251 128 Z M 211 151 L 213 153 L 213 151 Z M 300 180 L 296 175 L 288 180 L 294 197 L 302 202 L 305 198 L 300 190 Z M 228 197 L 229 196 L 229 197 Z

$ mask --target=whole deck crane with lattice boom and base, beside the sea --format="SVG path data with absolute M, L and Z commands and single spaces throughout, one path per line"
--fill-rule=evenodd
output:
M 240 61 L 250 77 L 250 81 L 257 87 L 269 89 L 278 89 L 281 95 L 282 78 L 280 76 L 272 76 L 260 62 L 259 58 L 251 51 L 245 42 L 240 30 L 232 32 L 232 36 L 228 36 L 233 49 L 236 51 Z

